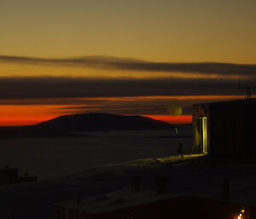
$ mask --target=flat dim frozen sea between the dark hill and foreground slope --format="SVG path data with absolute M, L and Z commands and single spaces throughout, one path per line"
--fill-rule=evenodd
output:
M 183 130 L 188 135 L 190 130 Z M 177 154 L 178 141 L 184 153 L 192 138 L 172 137 L 169 130 L 110 131 L 84 133 L 79 137 L 20 138 L 0 140 L 0 167 L 6 164 L 38 180 L 68 176 L 88 168 Z M 88 135 L 89 134 L 89 135 Z

